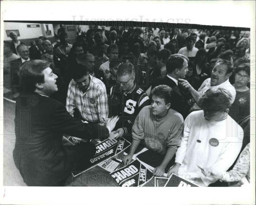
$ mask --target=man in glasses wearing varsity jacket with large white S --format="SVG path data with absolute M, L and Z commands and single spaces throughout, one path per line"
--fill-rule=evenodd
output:
M 115 130 L 119 136 L 128 134 L 131 141 L 133 122 L 140 110 L 147 105 L 149 97 L 136 85 L 134 65 L 125 62 L 118 67 L 116 81 L 119 84 L 110 89 L 110 116 L 118 115 L 120 120 Z

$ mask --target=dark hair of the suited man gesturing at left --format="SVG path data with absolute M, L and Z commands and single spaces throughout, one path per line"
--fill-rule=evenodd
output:
M 26 61 L 20 67 L 21 86 L 25 92 L 34 92 L 36 83 L 44 83 L 43 71 L 50 66 L 48 61 L 31 60 Z

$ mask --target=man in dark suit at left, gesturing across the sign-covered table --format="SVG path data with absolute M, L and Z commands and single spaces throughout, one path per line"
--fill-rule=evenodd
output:
M 23 92 L 17 97 L 15 115 L 15 165 L 28 186 L 63 186 L 70 172 L 84 170 L 95 154 L 89 140 L 108 137 L 118 118 L 99 125 L 70 116 L 63 104 L 49 98 L 58 87 L 57 75 L 47 61 L 24 63 L 21 79 Z M 63 146 L 63 133 L 88 142 Z

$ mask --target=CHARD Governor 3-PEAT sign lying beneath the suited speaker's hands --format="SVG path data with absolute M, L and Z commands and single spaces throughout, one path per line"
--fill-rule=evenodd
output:
M 125 140 L 124 138 L 120 137 L 119 139 L 106 139 L 98 144 L 95 145 L 96 147 L 96 154 L 90 159 L 90 165 L 86 170 L 83 172 L 87 171 L 88 169 L 96 166 L 97 164 L 119 154 L 123 150 L 125 150 L 127 147 L 131 145 L 130 142 Z M 72 172 L 72 175 L 74 177 L 82 174 L 83 172 L 80 173 L 75 173 Z

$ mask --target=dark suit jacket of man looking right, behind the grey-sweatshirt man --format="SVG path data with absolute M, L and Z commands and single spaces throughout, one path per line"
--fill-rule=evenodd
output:
M 173 96 L 172 96 L 172 102 L 171 102 L 171 108 L 182 114 L 183 118 L 185 119 L 186 114 L 185 114 L 185 100 L 182 94 L 179 91 L 178 86 L 176 83 L 168 78 L 167 76 L 165 77 L 158 77 L 156 78 L 154 84 L 151 87 L 151 90 L 155 88 L 158 85 L 168 85 L 169 87 L 172 88 L 173 90 Z

